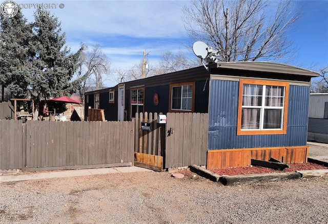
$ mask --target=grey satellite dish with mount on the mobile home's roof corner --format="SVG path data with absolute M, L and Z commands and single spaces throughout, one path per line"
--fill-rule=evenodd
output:
M 213 50 L 212 47 L 209 47 L 206 43 L 201 41 L 196 41 L 193 44 L 194 54 L 201 59 L 201 64 L 209 70 L 208 64 L 217 63 L 219 60 L 216 56 L 219 54 L 218 50 Z M 207 63 L 207 64 L 206 64 Z

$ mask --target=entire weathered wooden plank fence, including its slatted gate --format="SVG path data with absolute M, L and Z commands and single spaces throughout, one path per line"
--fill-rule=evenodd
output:
M 124 122 L 0 120 L 0 169 L 59 170 L 135 165 L 206 165 L 208 114 L 136 115 Z M 141 122 L 150 123 L 143 130 Z M 146 128 L 147 129 L 147 128 Z

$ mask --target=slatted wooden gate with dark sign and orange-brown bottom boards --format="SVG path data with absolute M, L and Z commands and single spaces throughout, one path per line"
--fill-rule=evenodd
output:
M 150 126 L 142 127 L 141 122 L 150 123 Z M 157 113 L 154 116 L 152 113 L 140 113 L 135 116 L 135 130 L 134 165 L 162 172 L 165 124 L 157 123 Z

